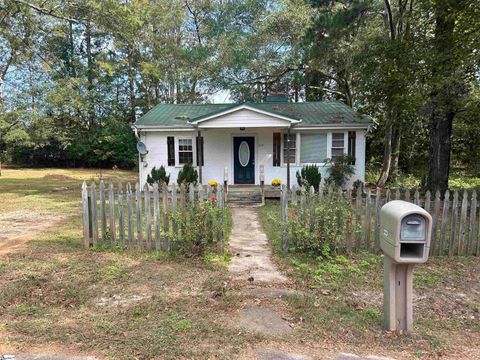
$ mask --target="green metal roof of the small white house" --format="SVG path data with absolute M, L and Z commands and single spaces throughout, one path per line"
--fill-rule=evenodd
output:
M 190 126 L 190 122 L 222 113 L 239 106 L 249 106 L 292 120 L 301 120 L 302 125 L 369 125 L 367 116 L 340 101 L 315 101 L 303 103 L 264 102 L 241 104 L 159 104 L 143 115 L 136 126 Z

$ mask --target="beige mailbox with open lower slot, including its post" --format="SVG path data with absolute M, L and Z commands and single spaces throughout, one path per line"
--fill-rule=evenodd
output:
M 395 200 L 381 209 L 386 330 L 412 330 L 413 267 L 427 261 L 431 232 L 432 217 L 417 205 Z

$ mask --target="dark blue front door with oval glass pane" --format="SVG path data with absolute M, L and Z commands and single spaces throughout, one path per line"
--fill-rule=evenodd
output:
M 255 184 L 255 138 L 233 138 L 233 180 L 235 184 Z

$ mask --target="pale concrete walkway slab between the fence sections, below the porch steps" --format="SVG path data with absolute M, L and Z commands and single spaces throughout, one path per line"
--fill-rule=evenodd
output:
M 287 281 L 272 262 L 272 250 L 260 226 L 258 207 L 232 206 L 233 229 L 230 248 L 233 253 L 229 271 L 236 280 L 279 284 Z

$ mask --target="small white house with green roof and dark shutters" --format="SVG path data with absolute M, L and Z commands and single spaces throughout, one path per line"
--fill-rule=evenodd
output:
M 148 153 L 141 157 L 140 181 L 165 166 L 176 181 L 186 163 L 197 167 L 203 184 L 296 183 L 306 164 L 343 153 L 355 157 L 355 175 L 365 178 L 365 133 L 371 120 L 337 101 L 242 104 L 160 104 L 135 124 Z M 289 140 L 289 141 L 288 141 Z M 290 174 L 290 179 L 288 175 Z

